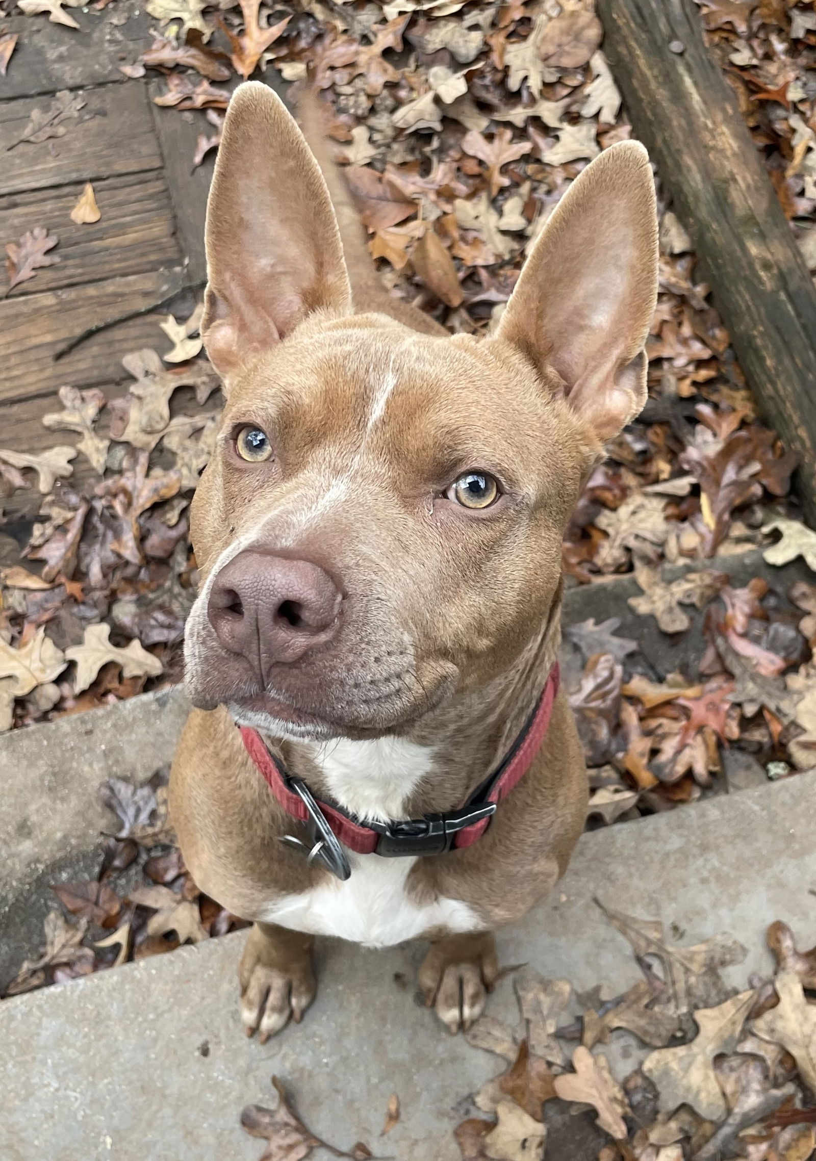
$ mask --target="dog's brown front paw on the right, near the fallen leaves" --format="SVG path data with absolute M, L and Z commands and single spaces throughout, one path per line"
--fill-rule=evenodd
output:
M 498 971 L 490 932 L 446 936 L 433 944 L 419 968 L 425 1005 L 434 1009 L 449 1032 L 467 1032 L 484 1011 Z

